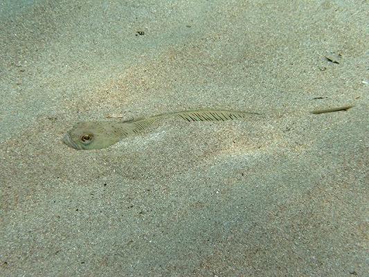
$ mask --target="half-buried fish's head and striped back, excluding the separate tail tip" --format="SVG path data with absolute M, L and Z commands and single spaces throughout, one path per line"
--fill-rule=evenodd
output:
M 147 118 L 128 121 L 86 121 L 73 126 L 63 137 L 63 142 L 76 150 L 108 148 L 127 136 L 139 134 L 147 127 L 166 118 L 179 118 L 191 121 L 224 121 L 238 118 L 251 118 L 259 114 L 247 111 L 222 109 L 199 109 L 159 114 Z

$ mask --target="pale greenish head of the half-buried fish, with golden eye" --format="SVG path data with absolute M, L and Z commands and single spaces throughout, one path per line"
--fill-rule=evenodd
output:
M 76 150 L 108 148 L 120 141 L 122 134 L 114 123 L 88 121 L 76 123 L 63 136 L 63 143 Z

